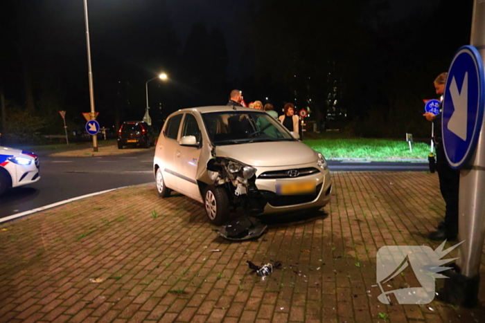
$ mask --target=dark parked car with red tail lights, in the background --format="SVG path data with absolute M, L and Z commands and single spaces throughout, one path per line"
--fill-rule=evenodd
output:
M 123 146 L 141 146 L 148 148 L 155 145 L 155 133 L 143 121 L 125 121 L 118 130 L 118 149 Z

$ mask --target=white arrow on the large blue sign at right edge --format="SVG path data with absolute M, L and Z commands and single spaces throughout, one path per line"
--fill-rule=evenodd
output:
M 461 93 L 458 91 L 457 81 L 453 77 L 450 85 L 451 100 L 455 111 L 453 111 L 450 121 L 448 121 L 448 129 L 459 136 L 461 140 L 466 140 L 466 120 L 468 118 L 468 72 L 465 73 L 463 84 L 461 85 Z

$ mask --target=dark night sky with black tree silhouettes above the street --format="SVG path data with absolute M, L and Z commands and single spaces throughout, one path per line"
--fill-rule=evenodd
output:
M 455 50 L 466 44 L 472 2 L 349 0 L 340 4 L 340 0 L 302 0 L 296 5 L 290 0 L 88 0 L 96 104 L 109 122 L 114 118 L 139 118 L 136 113 L 143 111 L 145 106 L 144 82 L 159 71 L 167 71 L 172 77 L 171 82 L 163 87 L 154 82 L 150 88 L 150 100 L 153 100 L 150 106 L 164 102 L 164 113 L 195 104 L 224 104 L 227 93 L 233 88 L 243 89 L 249 100 L 279 96 L 274 103 L 281 105 L 294 100 L 292 93 L 296 88 L 285 80 L 285 75 L 276 75 L 271 69 L 261 70 L 273 62 L 262 58 L 264 39 L 263 43 L 260 38 L 260 43 L 255 44 L 258 29 L 265 30 L 265 37 L 273 37 L 272 33 L 279 33 L 284 28 L 301 33 L 301 30 L 306 30 L 306 25 L 331 28 L 336 22 L 340 23 L 340 27 L 328 29 L 328 33 L 332 34 L 330 37 L 327 37 L 326 30 L 307 29 L 308 35 L 301 35 L 301 39 L 308 42 L 303 44 L 299 37 L 292 38 L 293 43 L 287 44 L 286 35 L 275 35 L 281 39 L 268 46 L 279 47 L 267 48 L 274 57 L 274 66 L 280 64 L 280 67 L 286 68 L 282 63 L 284 59 L 291 62 L 288 61 L 291 55 L 299 55 L 295 56 L 299 58 L 292 68 L 308 68 L 305 64 L 321 64 L 319 57 L 333 59 L 332 55 L 342 56 L 339 50 L 344 53 L 353 50 L 358 55 L 346 57 L 346 63 L 342 63 L 353 65 L 348 68 L 354 75 L 346 75 L 346 80 L 355 82 L 369 72 L 372 75 L 369 75 L 371 80 L 363 84 L 365 86 L 359 86 L 358 82 L 344 84 L 349 89 L 347 95 L 353 93 L 352 98 L 347 97 L 348 104 L 353 104 L 358 112 L 373 107 L 385 110 L 391 99 L 380 96 L 385 96 L 381 94 L 389 88 L 387 79 L 399 78 L 389 68 L 400 64 L 400 68 L 405 69 L 405 64 L 412 64 L 409 57 L 416 59 L 413 73 L 421 74 L 409 77 L 419 79 L 416 84 L 424 88 L 425 80 L 446 70 L 446 62 Z M 263 3 L 270 7 L 264 8 Z M 328 3 L 328 6 L 318 8 L 333 8 L 342 13 L 335 20 L 331 17 L 333 12 L 317 12 L 313 16 L 317 19 L 313 19 L 321 19 L 320 24 L 320 21 L 306 21 L 308 12 L 294 12 L 293 15 L 285 9 L 285 6 L 297 6 L 297 10 L 304 6 L 313 8 L 316 3 Z M 339 3 L 340 7 L 335 3 Z M 357 7 L 357 14 L 352 16 L 352 9 Z M 264 11 L 268 8 L 274 8 L 274 12 Z M 439 17 L 441 14 L 444 16 Z M 330 25 L 326 25 L 328 21 Z M 195 26 L 197 23 L 202 25 Z M 416 24 L 420 26 L 414 28 Z M 78 111 L 89 109 L 82 0 L 1 1 L 0 27 L 0 39 L 3 41 L 0 82 L 3 82 L 7 100 L 21 106 L 27 104 L 27 85 L 30 84 L 31 98 L 38 111 L 42 111 L 42 102 L 44 107 L 52 107 L 53 111 L 73 109 L 76 116 Z M 354 33 L 354 30 L 350 33 L 344 30 L 346 28 L 359 28 L 355 35 L 362 37 L 363 42 L 344 39 Z M 450 33 L 454 31 L 459 35 L 451 37 Z M 341 33 L 347 36 L 341 36 Z M 326 40 L 321 40 L 322 36 Z M 328 41 L 327 47 L 320 44 L 324 41 Z M 351 41 L 355 42 L 355 46 L 344 49 L 346 42 L 350 44 Z M 416 41 L 419 41 L 418 44 L 415 44 Z M 436 47 L 443 41 L 450 43 L 448 48 Z M 281 46 L 286 48 L 281 50 Z M 293 53 L 292 46 L 301 48 L 295 47 Z M 427 46 L 432 46 L 436 52 L 436 61 L 430 64 L 426 60 L 434 61 L 434 56 L 429 53 L 421 55 Z M 317 53 L 306 55 L 306 51 L 312 50 L 317 50 Z M 218 53 L 220 56 L 214 58 Z M 226 53 L 227 56 L 224 56 Z M 213 62 L 209 62 L 211 59 Z M 315 61 L 302 62 L 302 59 Z M 417 64 L 425 66 L 426 71 L 420 70 Z M 217 68 L 219 70 L 215 71 Z M 338 73 L 344 73 L 346 66 L 340 68 Z M 286 74 L 292 74 L 290 69 Z M 213 78 L 207 79 L 207 84 L 204 84 L 208 75 Z M 408 90 L 412 95 L 429 95 Z M 430 91 L 423 93 L 432 94 L 432 89 L 427 90 Z M 367 95 L 369 100 L 362 102 L 364 107 L 360 103 L 355 105 L 355 100 L 362 95 Z M 325 96 L 322 95 L 322 99 Z M 133 112 L 134 107 L 136 113 Z

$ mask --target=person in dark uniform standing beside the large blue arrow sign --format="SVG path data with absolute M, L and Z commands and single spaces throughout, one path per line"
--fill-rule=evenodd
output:
M 434 80 L 436 94 L 443 95 L 445 92 L 446 77 L 448 73 L 441 73 Z M 452 240 L 458 234 L 458 192 L 459 192 L 459 169 L 452 169 L 446 160 L 443 149 L 443 138 L 441 138 L 441 101 L 438 115 L 427 112 L 423 114 L 426 120 L 434 122 L 434 145 L 436 147 L 436 171 L 439 177 L 439 189 L 446 203 L 445 219 L 439 223 L 436 231 L 430 232 L 429 238 L 436 241 L 445 239 Z

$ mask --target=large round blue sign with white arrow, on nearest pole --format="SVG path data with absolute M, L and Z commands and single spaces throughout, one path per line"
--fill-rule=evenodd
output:
M 484 66 L 473 46 L 452 60 L 443 98 L 443 148 L 450 167 L 463 166 L 475 152 L 484 117 Z

